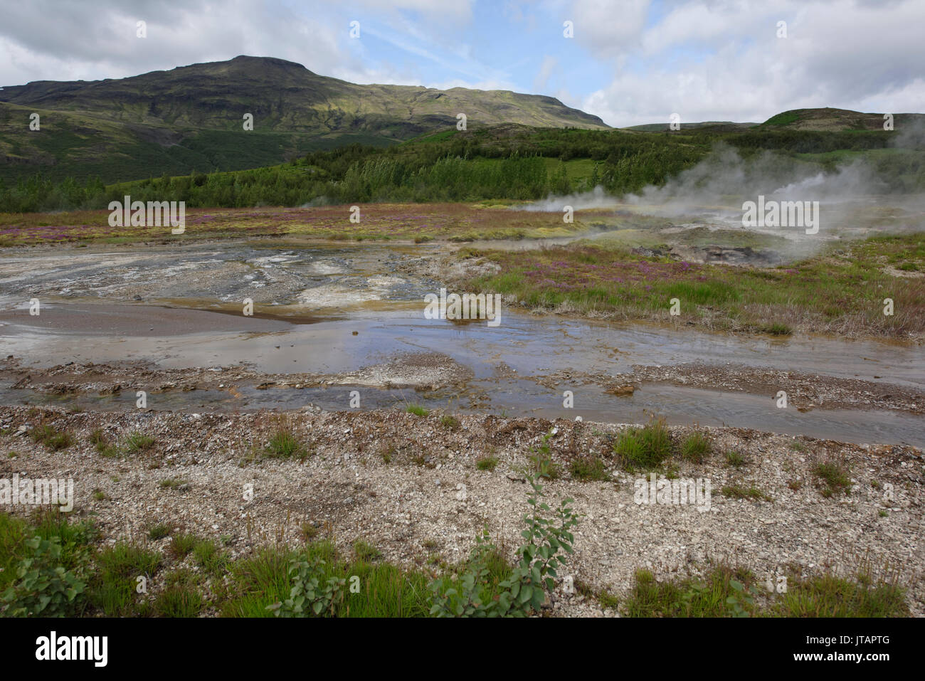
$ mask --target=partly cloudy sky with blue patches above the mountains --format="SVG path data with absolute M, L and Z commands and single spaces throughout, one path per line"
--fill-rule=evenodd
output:
M 0 0 L 0 18 L 3 85 L 251 55 L 351 82 L 548 94 L 614 127 L 925 112 L 925 0 Z

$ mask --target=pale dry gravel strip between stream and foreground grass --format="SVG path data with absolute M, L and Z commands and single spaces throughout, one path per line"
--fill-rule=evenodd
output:
M 624 470 L 612 452 L 623 427 L 492 415 L 458 415 L 447 425 L 437 412 L 304 413 L 282 418 L 308 455 L 261 457 L 277 418 L 0 407 L 0 446 L 13 452 L 0 457 L 0 477 L 72 477 L 72 513 L 92 515 L 105 541 L 134 539 L 166 551 L 168 538 L 147 539 L 149 527 L 166 524 L 222 539 L 237 557 L 279 540 L 300 546 L 300 528 L 309 523 L 340 547 L 364 539 L 389 562 L 420 567 L 435 553 L 461 560 L 486 525 L 513 551 L 528 510 L 520 471 L 549 435 L 550 456 L 563 471 L 546 483 L 550 505 L 569 496 L 583 514 L 568 567 L 575 580 L 623 597 L 639 568 L 668 579 L 726 562 L 760 581 L 769 574 L 852 577 L 867 566 L 907 589 L 911 614 L 925 614 L 925 465 L 914 448 L 711 427 L 712 453 L 701 463 L 679 460 L 675 469 L 682 478 L 709 479 L 709 504 L 666 505 L 635 501 L 643 474 Z M 67 430 L 74 443 L 48 451 L 29 437 L 40 423 Z M 105 457 L 91 442 L 97 429 L 114 442 L 142 432 L 154 446 Z M 677 439 L 691 429 L 671 430 Z M 728 464 L 726 452 L 741 461 Z M 610 481 L 569 474 L 570 463 L 589 454 L 605 461 Z M 497 458 L 494 470 L 478 468 L 485 456 Z M 849 471 L 850 489 L 825 493 L 813 471 L 827 462 Z M 250 501 L 242 498 L 246 485 L 253 485 Z M 723 491 L 734 487 L 760 495 Z M 558 588 L 555 596 L 551 614 L 614 614 Z

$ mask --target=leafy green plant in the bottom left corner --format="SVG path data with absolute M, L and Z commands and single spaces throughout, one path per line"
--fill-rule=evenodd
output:
M 56 537 L 33 537 L 26 540 L 25 546 L 31 555 L 19 562 L 19 581 L 3 594 L 6 603 L 4 613 L 14 617 L 65 617 L 74 614 L 80 606 L 79 597 L 86 583 L 60 564 L 60 540 Z

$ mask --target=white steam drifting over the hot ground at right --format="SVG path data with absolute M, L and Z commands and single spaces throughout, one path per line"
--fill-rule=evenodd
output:
M 861 158 L 823 172 L 818 164 L 771 152 L 743 158 L 719 143 L 697 166 L 663 186 L 649 185 L 623 197 L 598 186 L 514 209 L 561 213 L 564 206 L 572 206 L 580 212 L 576 219 L 596 229 L 658 229 L 670 234 L 665 230 L 705 228 L 715 232 L 714 241 L 721 247 L 735 245 L 741 235 L 755 234 L 770 237 L 780 255 L 777 262 L 788 262 L 817 254 L 833 241 L 925 229 L 925 196 L 894 189 Z M 745 227 L 743 204 L 757 202 L 759 196 L 766 201 L 819 202 L 818 233 L 807 234 L 801 227 Z

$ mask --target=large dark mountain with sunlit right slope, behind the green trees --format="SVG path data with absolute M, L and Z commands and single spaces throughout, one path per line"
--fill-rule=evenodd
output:
M 32 113 L 40 130 L 29 130 Z M 243 130 L 245 114 L 253 131 Z M 0 179 L 42 170 L 104 181 L 281 163 L 360 142 L 385 146 L 499 123 L 608 130 L 553 97 L 358 85 L 271 57 L 237 56 L 118 80 L 38 80 L 0 89 Z

